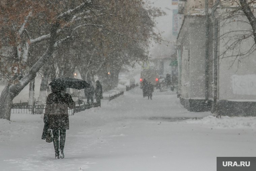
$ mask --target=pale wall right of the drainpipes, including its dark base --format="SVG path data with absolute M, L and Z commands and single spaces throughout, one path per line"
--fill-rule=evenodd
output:
M 252 37 L 243 39 L 252 26 L 241 15 L 219 21 L 219 114 L 256 116 L 256 53 L 247 53 L 255 42 Z

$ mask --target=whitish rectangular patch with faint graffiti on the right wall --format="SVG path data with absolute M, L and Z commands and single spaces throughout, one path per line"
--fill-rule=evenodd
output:
M 233 75 L 234 94 L 256 95 L 256 75 Z

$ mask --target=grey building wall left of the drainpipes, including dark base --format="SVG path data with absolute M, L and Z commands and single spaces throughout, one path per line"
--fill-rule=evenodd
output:
M 181 103 L 191 111 L 210 110 L 205 100 L 205 16 L 187 16 L 178 38 L 181 53 Z M 209 49 L 209 58 L 212 58 Z M 209 99 L 212 98 L 212 60 L 209 60 Z M 205 103 L 206 102 L 206 103 Z

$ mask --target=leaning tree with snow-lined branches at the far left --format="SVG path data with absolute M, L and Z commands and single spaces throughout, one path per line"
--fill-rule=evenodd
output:
M 50 11 L 50 12 L 47 11 L 46 9 L 49 9 L 47 8 L 48 3 L 44 1 L 41 2 L 41 4 L 37 4 L 37 5 L 40 5 L 42 8 L 42 9 L 38 9 L 38 11 L 41 12 L 46 10 L 46 14 L 47 12 L 49 12 L 49 14 L 46 16 L 50 18 L 49 20 L 50 32 L 49 34 L 32 39 L 29 33 L 27 34 L 28 36 L 22 37 L 22 35 L 24 32 L 25 33 L 27 32 L 26 26 L 29 23 L 29 21 L 35 20 L 35 18 L 32 19 L 33 12 L 35 13 L 34 15 L 36 15 L 38 11 L 35 10 L 37 8 L 32 8 L 32 7 L 34 7 L 37 1 L 24 1 L 23 3 L 24 3 L 23 5 L 25 5 L 24 8 L 26 7 L 26 5 L 28 5 L 28 7 L 26 7 L 24 10 L 21 10 L 22 12 L 19 14 L 14 13 L 15 15 L 22 16 L 22 17 L 16 18 L 16 20 L 13 19 L 15 15 L 10 14 L 9 10 L 11 10 L 12 8 L 16 8 L 18 6 L 17 2 L 1 1 L 1 7 L 0 7 L 1 9 L 3 9 L 1 10 L 1 18 L 7 21 L 3 23 L 5 24 L 5 29 L 7 30 L 7 32 L 12 33 L 12 35 L 11 34 L 9 35 L 9 38 L 10 38 L 9 44 L 12 43 L 13 46 L 16 47 L 17 49 L 14 55 L 14 59 L 15 57 L 17 59 L 13 60 L 13 62 L 11 63 L 11 65 L 15 67 L 12 67 L 11 70 L 9 70 L 9 68 L 7 67 L 1 70 L 1 73 L 8 73 L 8 72 L 10 73 L 10 74 L 6 74 L 8 77 L 5 77 L 5 78 L 9 78 L 8 79 L 9 84 L 4 88 L 0 96 L 0 118 L 5 118 L 8 120 L 10 119 L 10 110 L 11 110 L 11 104 L 12 104 L 13 98 L 17 96 L 21 92 L 21 90 L 31 80 L 35 78 L 38 70 L 52 57 L 54 49 L 58 46 L 58 44 L 61 43 L 63 40 L 69 38 L 69 36 L 64 35 L 65 36 L 64 38 L 59 39 L 59 33 L 62 31 L 62 29 L 65 28 L 64 26 L 68 23 L 67 21 L 69 21 L 70 19 L 72 20 L 72 17 L 74 14 L 77 15 L 78 12 L 83 11 L 83 9 L 91 5 L 91 1 L 85 1 L 73 9 L 68 9 L 63 13 L 58 13 L 57 9 L 55 9 L 56 11 Z M 44 5 L 44 3 L 47 5 Z M 53 8 L 50 8 L 50 9 L 53 9 Z M 6 14 L 9 14 L 9 15 L 6 15 Z M 19 23 L 22 23 L 22 24 L 17 26 L 17 24 Z M 61 24 L 64 26 L 61 27 Z M 45 50 L 43 55 L 40 57 L 40 59 L 27 72 L 25 72 L 25 75 L 23 77 L 20 77 L 20 78 L 15 77 L 16 73 L 17 74 L 22 73 L 23 66 L 27 62 L 29 45 L 38 41 L 42 41 L 44 39 L 48 39 L 46 43 L 47 49 Z M 2 63 L 5 62 L 6 66 L 8 64 L 8 62 L 6 62 L 4 58 L 2 58 L 1 62 Z M 11 76 L 11 75 L 14 75 L 14 76 Z

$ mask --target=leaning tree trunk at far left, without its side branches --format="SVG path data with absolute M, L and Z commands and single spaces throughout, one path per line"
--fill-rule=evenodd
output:
M 60 26 L 56 21 L 51 28 L 51 37 L 49 40 L 49 46 L 41 58 L 31 67 L 28 74 L 26 74 L 19 83 L 9 84 L 5 86 L 0 96 L 0 118 L 10 120 L 12 100 L 17 96 L 27 84 L 33 80 L 39 69 L 46 63 L 46 61 L 52 56 L 54 51 L 55 39 L 57 37 L 56 31 Z

